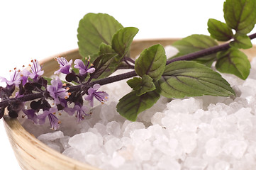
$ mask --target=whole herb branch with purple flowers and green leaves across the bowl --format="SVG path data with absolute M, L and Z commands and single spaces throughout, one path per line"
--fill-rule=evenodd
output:
M 108 94 L 99 91 L 100 86 L 123 79 L 128 79 L 131 92 L 119 100 L 116 109 L 133 121 L 160 96 L 235 96 L 228 81 L 218 72 L 234 74 L 240 79 L 249 75 L 250 62 L 240 49 L 252 47 L 250 40 L 256 38 L 256 33 L 247 35 L 256 23 L 255 6 L 256 0 L 226 0 L 223 5 L 226 23 L 209 19 L 211 36 L 190 35 L 174 42 L 172 46 L 179 52 L 169 60 L 160 44 L 148 47 L 133 60 L 129 51 L 138 28 L 123 28 L 108 14 L 87 13 L 77 29 L 82 59 L 74 60 L 73 64 L 65 57 L 56 58 L 60 69 L 55 74 L 64 74 L 65 80 L 43 77 L 44 71 L 37 60 L 31 61 L 30 70 L 14 69 L 10 80 L 0 78 L 6 82 L 5 87 L 0 87 L 0 118 L 7 109 L 11 118 L 23 113 L 23 117 L 38 125 L 49 118 L 51 128 L 56 130 L 60 121 L 55 113 L 65 111 L 81 121 L 90 115 L 94 98 L 101 103 L 108 100 Z M 226 43 L 218 45 L 218 41 Z M 117 69 L 133 71 L 111 76 Z

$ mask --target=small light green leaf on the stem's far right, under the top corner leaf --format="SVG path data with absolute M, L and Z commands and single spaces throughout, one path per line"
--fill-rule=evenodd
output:
M 230 42 L 230 46 L 247 49 L 252 47 L 252 42 L 247 35 L 235 34 L 235 40 Z

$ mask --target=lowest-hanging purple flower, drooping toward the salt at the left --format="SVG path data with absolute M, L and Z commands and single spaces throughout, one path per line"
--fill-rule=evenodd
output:
M 52 130 L 57 130 L 60 127 L 60 121 L 55 116 L 55 113 L 57 113 L 57 108 L 50 108 L 49 111 L 43 111 L 42 114 L 38 115 L 39 125 L 43 125 L 46 117 L 48 117 Z

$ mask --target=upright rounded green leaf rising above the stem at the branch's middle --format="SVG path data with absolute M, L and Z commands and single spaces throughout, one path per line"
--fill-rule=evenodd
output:
M 140 57 L 135 60 L 135 72 L 143 77 L 149 75 L 153 81 L 160 79 L 165 71 L 166 55 L 162 45 L 153 45 L 141 52 Z

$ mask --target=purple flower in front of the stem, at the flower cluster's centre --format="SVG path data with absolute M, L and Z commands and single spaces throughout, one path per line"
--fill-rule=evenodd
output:
M 55 104 L 60 104 L 60 98 L 69 97 L 67 89 L 62 88 L 62 81 L 59 78 L 52 79 L 50 83 L 52 85 L 47 86 L 47 90 L 49 91 L 50 96 L 54 99 Z

